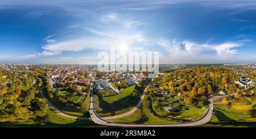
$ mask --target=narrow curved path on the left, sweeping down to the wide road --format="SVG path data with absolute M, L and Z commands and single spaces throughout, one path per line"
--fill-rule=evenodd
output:
M 46 101 L 46 103 L 48 103 L 49 107 L 56 113 L 58 113 L 61 116 L 67 117 L 67 118 L 71 118 L 71 119 L 77 119 L 77 120 L 89 120 L 88 117 L 78 117 L 78 116 L 72 116 L 72 115 L 68 115 L 64 112 L 61 112 L 59 109 L 57 109 L 51 102 L 49 102 L 49 100 L 46 98 L 46 96 L 44 96 L 43 94 L 43 90 L 41 90 L 40 95 L 42 96 L 42 98 Z

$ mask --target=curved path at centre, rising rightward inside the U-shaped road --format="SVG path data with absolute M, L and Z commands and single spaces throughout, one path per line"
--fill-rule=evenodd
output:
M 148 86 L 147 86 L 148 87 Z M 128 116 L 128 115 L 131 115 L 131 113 L 134 113 L 135 111 L 137 111 L 137 109 L 139 108 L 139 106 L 141 106 L 141 103 L 142 103 L 142 100 L 144 99 L 144 96 L 145 96 L 145 92 L 147 90 L 147 87 L 146 89 L 143 91 L 143 94 L 141 96 L 141 99 L 139 100 L 139 102 L 137 103 L 137 105 L 131 109 L 130 111 L 126 112 L 126 113 L 122 113 L 122 114 L 119 114 L 119 115 L 114 115 L 114 116 L 108 116 L 108 117 L 102 117 L 103 119 L 105 120 L 108 120 L 108 119 L 117 119 L 117 118 L 121 118 L 121 117 L 125 117 L 125 116 Z

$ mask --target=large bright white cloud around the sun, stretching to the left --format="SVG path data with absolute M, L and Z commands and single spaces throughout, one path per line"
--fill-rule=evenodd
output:
M 80 52 L 87 48 L 109 50 L 110 47 L 114 47 L 122 51 L 131 50 L 133 47 L 136 47 L 136 43 L 146 42 L 143 32 L 135 29 L 135 27 L 141 24 L 138 21 L 124 18 L 116 13 L 102 15 L 101 21 L 105 24 L 104 27 L 98 30 L 91 27 L 81 27 L 85 31 L 93 33 L 93 35 L 67 37 L 62 40 L 52 39 L 52 35 L 50 35 L 46 37 L 46 45 L 43 45 L 42 48 L 47 53 L 54 55 L 68 51 Z M 115 24 L 115 28 L 117 29 L 108 30 L 108 27 L 112 27 L 112 23 L 110 22 L 117 23 Z

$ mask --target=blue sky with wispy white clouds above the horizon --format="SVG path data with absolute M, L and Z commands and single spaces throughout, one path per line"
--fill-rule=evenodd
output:
M 96 64 L 110 48 L 160 63 L 255 63 L 254 1 L 0 0 L 0 62 Z

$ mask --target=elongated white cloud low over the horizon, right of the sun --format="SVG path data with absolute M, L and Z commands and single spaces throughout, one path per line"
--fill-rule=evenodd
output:
M 162 46 L 167 52 L 165 58 L 171 61 L 228 61 L 231 57 L 238 54 L 237 47 L 241 47 L 241 43 L 225 42 L 221 44 L 201 44 L 193 41 L 176 41 L 162 39 L 158 41 L 158 45 Z M 164 57 L 163 57 L 164 58 Z

